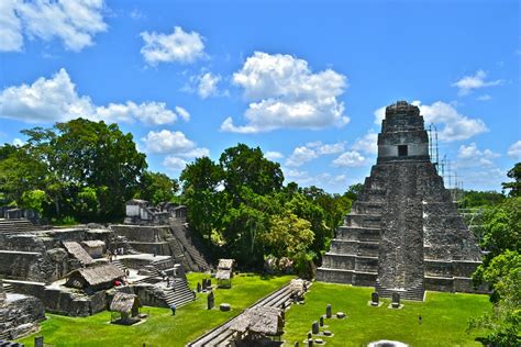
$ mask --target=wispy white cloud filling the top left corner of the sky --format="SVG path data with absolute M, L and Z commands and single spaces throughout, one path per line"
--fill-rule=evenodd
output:
M 79 52 L 107 31 L 102 0 L 0 2 L 0 52 L 23 49 L 24 35 L 43 41 L 60 40 L 66 49 Z

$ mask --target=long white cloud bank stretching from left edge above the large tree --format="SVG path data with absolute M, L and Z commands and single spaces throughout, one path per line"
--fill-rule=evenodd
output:
M 164 102 L 126 101 L 96 105 L 87 96 L 78 96 L 76 85 L 65 69 L 52 78 L 41 77 L 32 85 L 13 86 L 0 92 L 1 117 L 35 123 L 51 123 L 86 117 L 95 121 L 128 122 L 140 121 L 149 125 L 174 123 L 177 114 Z M 182 108 L 176 111 L 187 119 Z

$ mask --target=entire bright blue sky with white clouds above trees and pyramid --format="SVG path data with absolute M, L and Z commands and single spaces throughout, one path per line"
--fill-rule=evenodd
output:
M 500 190 L 521 159 L 518 1 L 7 0 L 0 27 L 1 143 L 82 115 L 175 178 L 245 143 L 343 192 L 407 100 L 464 188 Z

